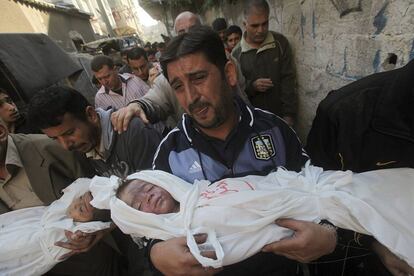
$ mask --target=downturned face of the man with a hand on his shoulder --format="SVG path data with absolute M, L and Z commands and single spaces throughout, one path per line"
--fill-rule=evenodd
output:
M 42 129 L 42 132 L 58 141 L 64 149 L 82 153 L 91 151 L 100 141 L 96 123 L 89 118 L 85 122 L 78 120 L 70 113 L 63 115 L 60 125 Z

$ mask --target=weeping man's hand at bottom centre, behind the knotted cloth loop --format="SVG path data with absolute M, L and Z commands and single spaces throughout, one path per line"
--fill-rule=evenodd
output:
M 206 241 L 207 235 L 195 235 L 194 238 L 200 244 Z M 214 251 L 206 251 L 202 255 L 216 258 Z M 154 266 L 165 275 L 213 275 L 221 270 L 202 267 L 188 249 L 185 237 L 154 244 L 150 258 Z

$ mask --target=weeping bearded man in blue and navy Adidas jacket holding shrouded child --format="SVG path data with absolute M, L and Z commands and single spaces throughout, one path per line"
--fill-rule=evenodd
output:
M 202 179 L 266 175 L 279 166 L 299 170 L 307 160 L 296 134 L 283 120 L 254 109 L 235 96 L 231 89 L 237 82 L 235 65 L 227 61 L 222 41 L 210 28 L 192 28 L 170 41 L 161 65 L 186 114 L 161 142 L 153 169 L 193 183 Z M 335 247 L 335 233 L 331 230 L 312 223 L 293 223 L 300 229 L 315 231 L 313 234 L 320 237 L 322 249 L 315 254 L 329 253 Z M 300 232 L 298 235 L 302 236 Z M 205 236 L 196 237 L 200 243 L 204 239 Z M 203 269 L 186 248 L 184 237 L 152 241 L 150 258 L 167 275 L 217 272 Z M 222 273 L 294 275 L 295 271 L 295 262 L 261 253 L 225 268 Z

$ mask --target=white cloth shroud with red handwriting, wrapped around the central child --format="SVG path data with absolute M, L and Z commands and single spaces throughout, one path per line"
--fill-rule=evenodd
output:
M 300 173 L 280 168 L 268 176 L 194 185 L 162 171 L 142 171 L 128 178 L 166 189 L 180 202 L 179 212 L 155 215 L 129 207 L 114 196 L 119 184 L 115 177 L 92 180 L 92 204 L 109 208 L 113 221 L 126 234 L 157 239 L 187 236 L 191 253 L 206 267 L 239 262 L 264 245 L 291 236 L 290 230 L 274 224 L 278 218 L 327 219 L 338 227 L 374 236 L 414 266 L 413 169 L 353 174 L 307 164 Z M 214 248 L 216 260 L 201 256 L 194 233 L 209 234 L 200 248 Z

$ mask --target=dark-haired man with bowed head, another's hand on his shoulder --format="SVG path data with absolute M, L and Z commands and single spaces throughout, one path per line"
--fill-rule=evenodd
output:
M 64 149 L 82 153 L 96 175 L 123 178 L 150 168 L 152 156 L 161 140 L 160 134 L 138 118 L 131 120 L 127 131 L 118 134 L 110 121 L 112 112 L 112 109 L 95 109 L 84 96 L 70 87 L 53 86 L 33 96 L 28 113 L 31 121 Z M 101 232 L 96 232 L 94 236 L 75 234 L 69 242 L 59 245 L 73 250 L 71 254 L 79 250 L 87 251 L 91 244 L 103 237 Z M 145 263 L 142 263 L 143 250 L 118 230 L 112 236 L 121 252 L 133 258 L 128 262 L 128 273 L 143 273 L 146 269 Z

